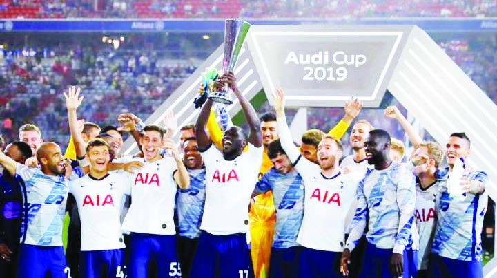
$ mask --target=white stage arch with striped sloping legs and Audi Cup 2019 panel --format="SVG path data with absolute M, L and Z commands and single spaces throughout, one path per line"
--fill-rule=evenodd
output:
M 159 123 L 173 109 L 178 125 L 195 122 L 193 98 L 207 67 L 221 69 L 223 45 L 146 120 Z M 272 103 L 283 87 L 290 107 L 342 107 L 357 96 L 378 107 L 388 90 L 435 140 L 445 145 L 453 132 L 471 138 L 474 167 L 497 179 L 497 105 L 420 28 L 413 25 L 253 25 L 235 68 L 247 98 L 264 89 Z M 240 110 L 235 100 L 228 106 Z M 178 136 L 177 134 L 175 136 Z M 126 141 L 126 152 L 135 147 Z M 487 191 L 497 200 L 494 183 Z M 497 273 L 497 261 L 484 267 Z

